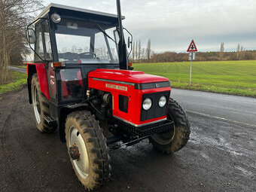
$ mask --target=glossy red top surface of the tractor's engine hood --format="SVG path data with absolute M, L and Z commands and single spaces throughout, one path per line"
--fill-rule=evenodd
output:
M 119 69 L 96 69 L 90 72 L 88 78 L 100 78 L 112 81 L 123 81 L 134 84 L 148 84 L 154 82 L 169 81 L 157 75 L 145 74 L 145 72 L 119 70 Z

